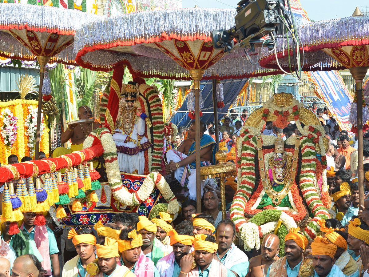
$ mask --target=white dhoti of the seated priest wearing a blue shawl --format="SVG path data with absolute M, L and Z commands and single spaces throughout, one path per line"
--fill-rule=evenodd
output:
M 177 150 L 170 149 L 166 153 L 166 160 L 168 163 L 172 160 L 175 163 L 182 161 L 187 155 L 183 154 Z M 210 165 L 210 162 L 201 162 L 204 165 Z M 187 174 L 188 173 L 188 174 Z M 190 174 L 190 175 L 189 175 Z M 189 165 L 177 168 L 174 171 L 174 177 L 181 183 L 182 187 L 187 184 L 190 195 L 189 199 L 196 200 L 196 168 L 190 168 Z M 215 182 L 213 179 L 206 179 L 201 181 L 201 197 L 203 197 L 204 187 L 206 185 L 214 186 Z

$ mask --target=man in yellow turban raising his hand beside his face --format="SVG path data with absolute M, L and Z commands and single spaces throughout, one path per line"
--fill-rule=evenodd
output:
M 188 254 L 181 260 L 179 277 L 234 277 L 222 263 L 215 260 L 218 244 L 215 237 L 210 235 L 196 235 L 194 239 L 194 256 Z M 193 260 L 197 266 L 191 269 Z

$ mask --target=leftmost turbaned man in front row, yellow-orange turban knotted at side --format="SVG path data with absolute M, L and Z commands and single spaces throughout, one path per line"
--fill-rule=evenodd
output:
M 63 277 L 85 277 L 87 264 L 92 263 L 97 256 L 96 237 L 91 229 L 83 228 L 79 230 L 71 229 L 68 239 L 72 239 L 76 247 L 77 256 L 67 261 L 63 267 Z

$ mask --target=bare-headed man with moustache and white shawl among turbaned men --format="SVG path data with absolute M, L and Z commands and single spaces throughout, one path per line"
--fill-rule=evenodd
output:
M 236 277 L 245 277 L 249 269 L 249 259 L 233 243 L 236 238 L 234 223 L 229 219 L 221 220 L 215 234 L 218 244 L 217 256 L 220 262 Z

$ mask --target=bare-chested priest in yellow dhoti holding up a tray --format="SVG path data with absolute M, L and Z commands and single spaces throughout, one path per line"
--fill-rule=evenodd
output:
M 83 105 L 78 108 L 79 119 L 92 118 L 92 111 L 89 107 Z M 70 149 L 58 147 L 54 150 L 53 158 L 60 155 L 70 154 L 73 151 L 82 150 L 83 142 L 92 130 L 99 128 L 100 124 L 94 122 L 70 124 L 68 128 L 62 133 L 60 139 L 62 143 L 66 143 L 69 139 L 72 141 Z

